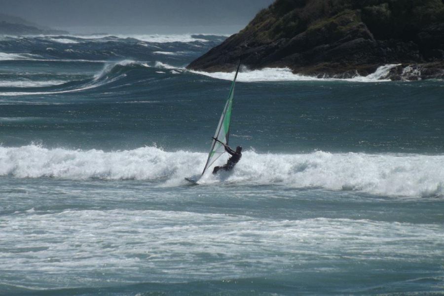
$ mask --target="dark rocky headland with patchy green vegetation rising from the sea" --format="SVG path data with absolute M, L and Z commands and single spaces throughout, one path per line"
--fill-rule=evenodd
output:
M 277 0 L 188 68 L 232 71 L 239 59 L 250 69 L 289 67 L 318 76 L 403 64 L 442 77 L 444 0 Z

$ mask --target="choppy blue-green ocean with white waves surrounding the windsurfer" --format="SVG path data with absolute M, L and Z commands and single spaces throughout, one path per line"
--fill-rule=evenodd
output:
M 444 295 L 443 81 L 241 67 L 190 186 L 224 38 L 0 37 L 0 295 Z

